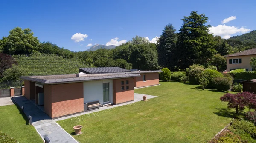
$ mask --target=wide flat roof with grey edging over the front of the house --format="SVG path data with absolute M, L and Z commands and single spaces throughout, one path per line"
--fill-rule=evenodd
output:
M 58 83 L 75 83 L 90 80 L 107 80 L 118 78 L 139 77 L 140 74 L 87 74 L 87 76 L 76 77 L 76 74 L 62 74 L 62 75 L 44 75 L 44 76 L 26 76 L 20 77 L 23 80 L 29 80 L 36 83 L 43 84 L 58 84 Z

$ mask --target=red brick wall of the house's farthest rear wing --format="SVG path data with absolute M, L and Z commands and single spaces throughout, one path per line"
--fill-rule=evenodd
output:
M 136 87 L 143 87 L 143 86 L 153 86 L 159 84 L 159 75 L 158 72 L 155 73 L 148 73 L 146 75 L 146 81 L 143 82 L 143 75 L 140 74 L 140 77 L 135 77 L 136 78 Z

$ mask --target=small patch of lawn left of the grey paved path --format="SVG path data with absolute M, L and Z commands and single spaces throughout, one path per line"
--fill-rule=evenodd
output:
M 0 130 L 20 143 L 43 143 L 35 128 L 27 124 L 16 105 L 0 106 Z

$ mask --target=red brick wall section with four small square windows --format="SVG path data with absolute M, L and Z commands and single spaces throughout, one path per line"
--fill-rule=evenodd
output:
M 129 84 L 126 84 L 126 80 Z M 124 81 L 124 85 L 121 85 L 121 81 Z M 113 80 L 113 103 L 119 104 L 127 101 L 134 100 L 134 82 L 133 78 L 116 79 Z M 124 86 L 124 90 L 121 87 Z M 129 86 L 129 89 L 126 89 Z

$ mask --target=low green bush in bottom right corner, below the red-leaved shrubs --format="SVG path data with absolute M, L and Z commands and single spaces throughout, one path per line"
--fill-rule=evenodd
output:
M 235 119 L 232 122 L 232 128 L 243 130 L 244 132 L 249 133 L 251 137 L 256 138 L 256 126 L 250 121 Z

